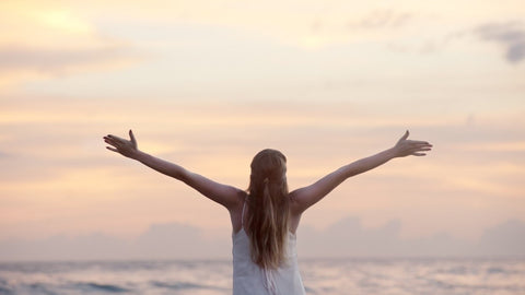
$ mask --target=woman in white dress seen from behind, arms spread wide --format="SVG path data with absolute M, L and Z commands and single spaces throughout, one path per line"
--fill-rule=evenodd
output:
M 222 204 L 233 227 L 233 294 L 305 294 L 298 268 L 295 232 L 302 213 L 347 178 L 375 168 L 392 158 L 423 156 L 432 145 L 408 140 L 407 131 L 397 143 L 381 153 L 355 161 L 315 184 L 288 191 L 287 158 L 276 150 L 259 152 L 252 162 L 247 191 L 221 185 L 182 166 L 141 152 L 133 132 L 130 140 L 104 137 L 108 150 L 174 177 Z

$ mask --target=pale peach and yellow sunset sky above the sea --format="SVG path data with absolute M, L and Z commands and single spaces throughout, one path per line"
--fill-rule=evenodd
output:
M 408 129 L 433 151 L 348 179 L 304 213 L 305 244 L 334 228 L 421 253 L 525 237 L 524 20 L 518 0 L 1 1 L 0 259 L 154 244 L 155 228 L 230 253 L 226 210 L 105 149 L 129 129 L 242 189 L 265 148 L 295 189 Z

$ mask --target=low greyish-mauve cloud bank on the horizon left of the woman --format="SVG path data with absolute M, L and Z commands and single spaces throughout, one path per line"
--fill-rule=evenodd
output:
M 228 257 L 231 241 L 194 226 L 154 224 L 137 238 L 93 233 L 0 243 L 0 260 L 199 259 Z

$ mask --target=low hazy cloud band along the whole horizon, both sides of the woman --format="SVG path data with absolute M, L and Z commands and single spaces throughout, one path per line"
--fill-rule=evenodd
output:
M 300 257 L 424 257 L 424 256 L 523 256 L 525 223 L 509 221 L 488 231 L 478 241 L 438 234 L 404 239 L 401 224 L 390 221 L 364 228 L 359 219 L 347 217 L 316 231 L 303 226 L 298 232 Z M 217 234 L 221 234 L 217 236 Z M 136 238 L 105 234 L 0 243 L 0 260 L 52 259 L 209 259 L 230 258 L 230 233 L 209 237 L 195 226 L 178 223 L 154 224 Z

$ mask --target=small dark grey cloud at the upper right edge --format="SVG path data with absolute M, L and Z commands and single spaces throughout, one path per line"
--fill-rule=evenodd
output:
M 475 33 L 483 40 L 499 44 L 505 49 L 505 59 L 518 63 L 525 58 L 525 26 L 522 22 L 488 23 Z

